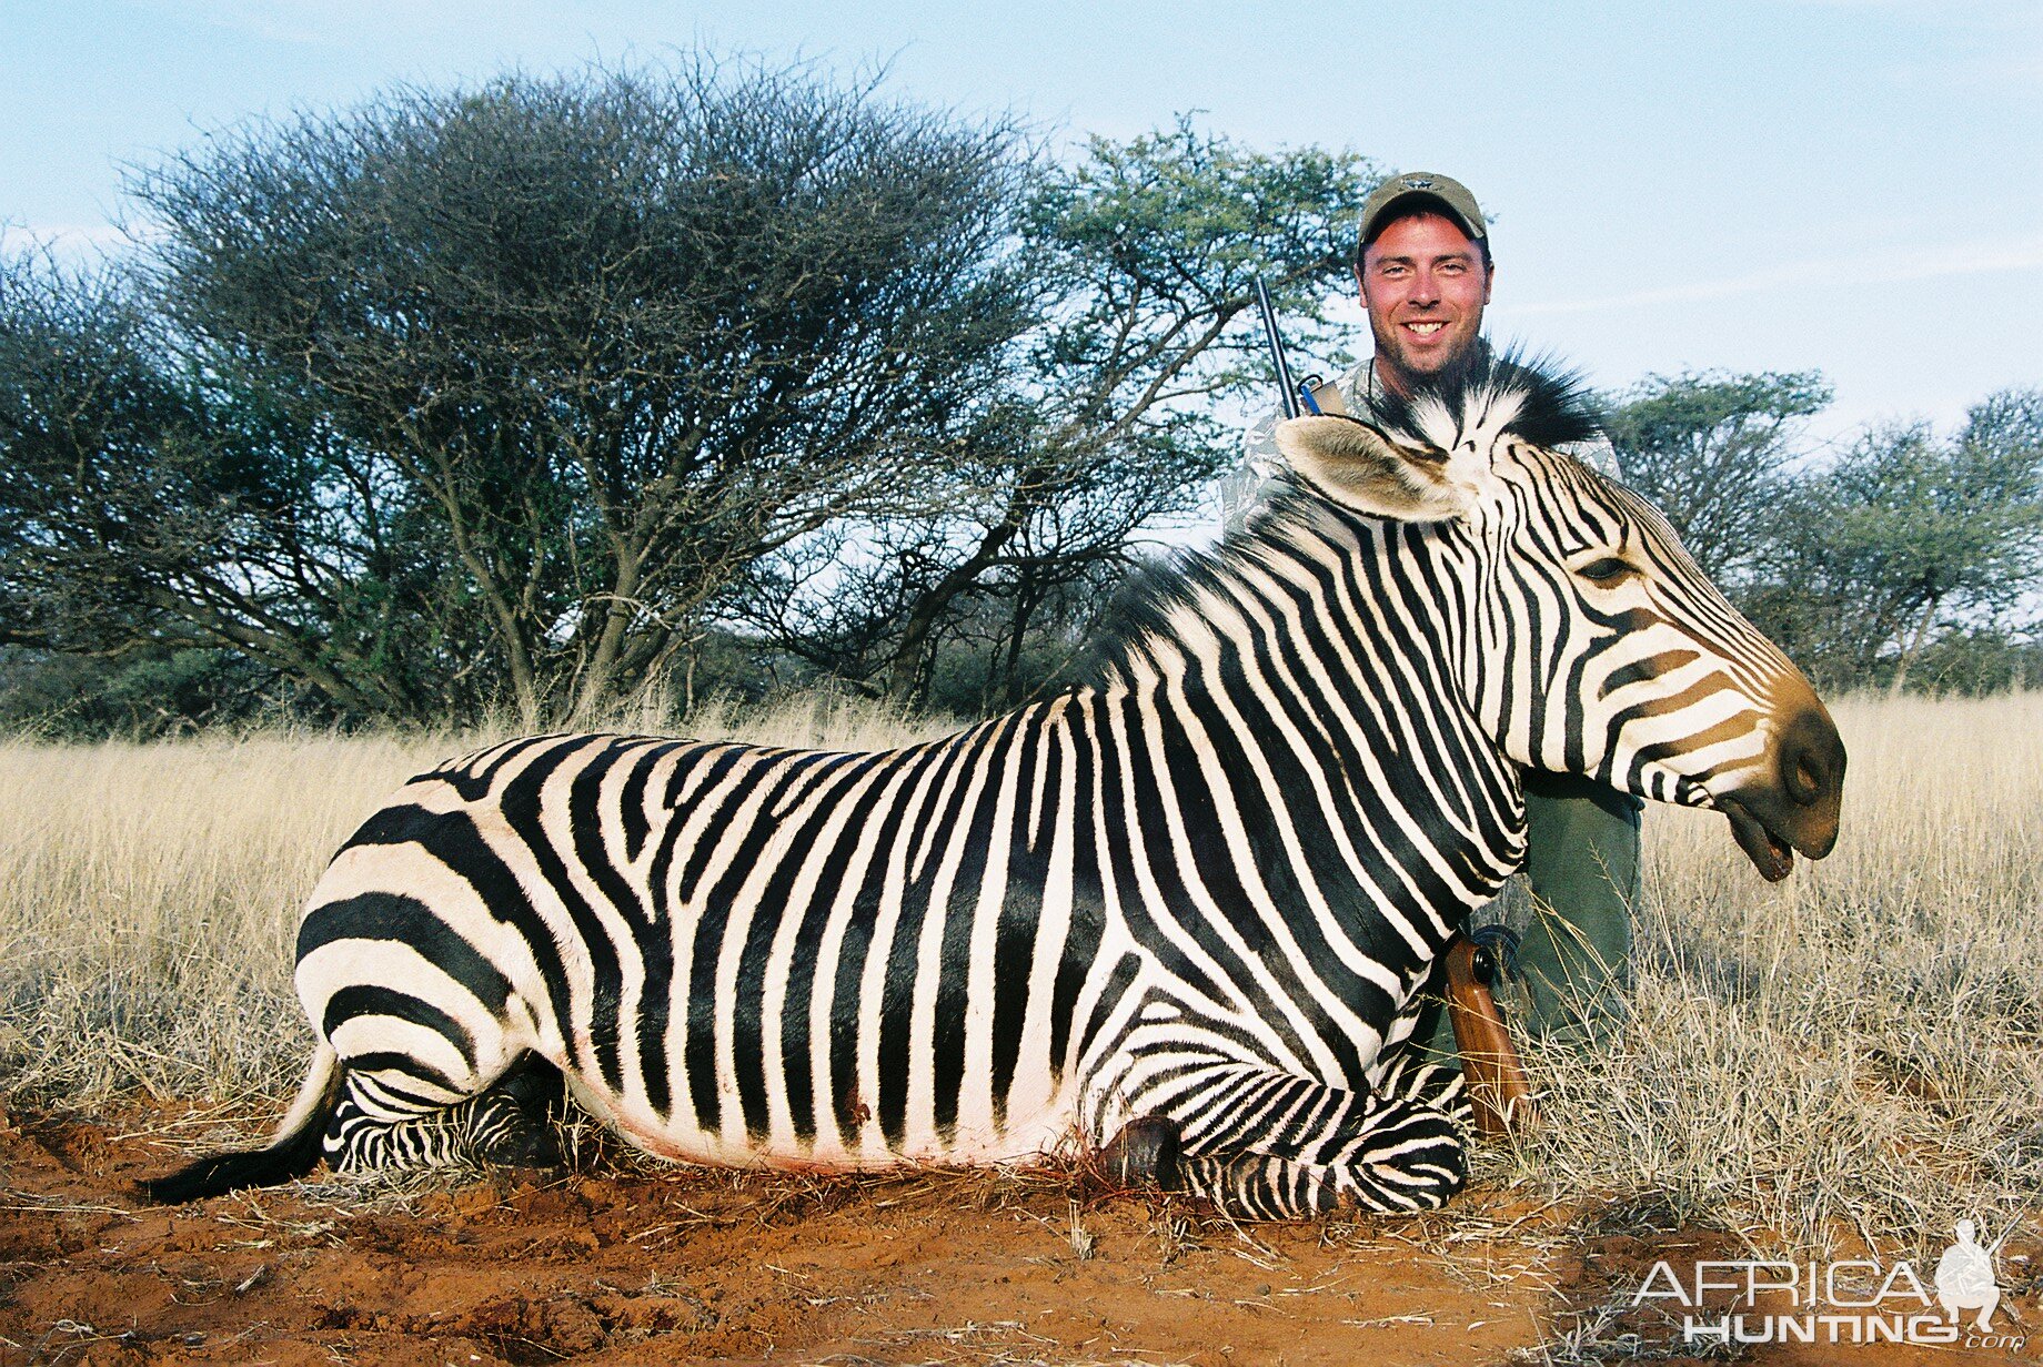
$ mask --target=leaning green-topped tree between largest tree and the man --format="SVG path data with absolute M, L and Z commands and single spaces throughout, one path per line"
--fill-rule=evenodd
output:
M 1269 384 L 1242 316 L 1254 277 L 1295 347 L 1338 357 L 1322 308 L 1373 182 L 1352 153 L 1258 153 L 1189 120 L 1093 139 L 1046 169 L 1019 253 L 1042 322 L 936 504 L 762 563 L 735 610 L 782 649 L 909 700 L 944 641 L 977 637 L 985 700 L 1017 702 L 1032 628 L 1071 639 L 1073 606 L 1126 573 L 1138 533 L 1197 508 L 1238 459 L 1214 408 Z

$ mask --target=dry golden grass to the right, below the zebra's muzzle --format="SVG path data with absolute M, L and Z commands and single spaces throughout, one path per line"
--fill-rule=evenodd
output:
M 2043 1192 L 2043 694 L 1861 700 L 1831 859 L 1767 888 L 1653 808 L 1630 1020 L 1532 1055 L 1508 1171 L 1796 1249 L 1998 1234 Z

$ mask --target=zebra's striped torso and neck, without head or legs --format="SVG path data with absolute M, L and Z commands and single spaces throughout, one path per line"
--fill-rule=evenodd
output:
M 1332 561 L 1299 547 L 1297 600 L 1228 626 L 1381 653 L 1308 616 Z M 715 1163 L 1019 1159 L 1173 1110 L 1197 1145 L 1205 1092 L 1365 1092 L 1520 857 L 1512 769 L 1467 718 L 1308 712 L 1310 679 L 1236 692 L 1248 653 L 1179 645 L 903 751 L 541 737 L 421 775 L 315 892 L 300 996 L 343 1055 L 407 1020 L 394 1096 L 362 1098 L 392 1118 L 533 1051 L 633 1143 Z M 1475 781 L 1414 812 L 1448 767 Z M 421 961 L 429 924 L 474 955 Z

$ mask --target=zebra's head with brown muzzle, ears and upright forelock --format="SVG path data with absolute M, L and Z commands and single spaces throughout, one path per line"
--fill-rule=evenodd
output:
M 1573 377 L 1483 357 L 1363 422 L 1293 418 L 1310 492 L 1426 565 L 1477 724 L 1520 765 L 1716 808 L 1767 879 L 1837 843 L 1845 747 L 1800 669 L 1667 518 L 1557 447 L 1598 424 Z

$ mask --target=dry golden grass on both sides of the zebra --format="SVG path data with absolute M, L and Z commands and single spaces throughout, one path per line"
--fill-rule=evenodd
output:
M 1998 1232 L 2043 1189 L 2043 694 L 1847 700 L 1845 839 L 1765 888 L 1720 818 L 1653 814 L 1632 1018 L 1532 1055 L 1549 1124 L 1483 1171 L 1820 1249 Z M 695 735 L 897 745 L 807 698 Z M 417 769 L 488 737 L 0 745 L 0 1087 L 276 1104 L 298 902 Z M 1763 1230 L 1763 1232 L 1761 1232 Z

